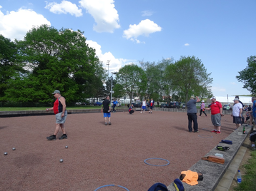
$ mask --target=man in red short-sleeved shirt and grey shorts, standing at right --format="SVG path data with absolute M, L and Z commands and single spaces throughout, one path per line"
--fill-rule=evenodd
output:
M 212 130 L 212 133 L 220 134 L 220 120 L 221 116 L 224 116 L 222 114 L 222 104 L 216 100 L 215 96 L 212 96 L 211 100 L 212 104 L 210 105 L 209 108 L 205 108 L 205 110 L 211 110 L 212 125 L 214 125 L 215 127 L 215 129 Z

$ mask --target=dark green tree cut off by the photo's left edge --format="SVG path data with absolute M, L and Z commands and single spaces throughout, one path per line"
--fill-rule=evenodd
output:
M 8 100 L 8 81 L 24 71 L 16 58 L 17 52 L 16 44 L 0 35 L 0 100 Z

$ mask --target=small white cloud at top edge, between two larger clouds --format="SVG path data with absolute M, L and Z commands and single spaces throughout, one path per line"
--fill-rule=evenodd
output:
M 70 1 L 61 1 L 61 4 L 55 2 L 49 3 L 46 1 L 45 9 L 49 9 L 54 14 L 71 14 L 76 17 L 82 16 L 82 9 L 78 9 L 76 4 Z

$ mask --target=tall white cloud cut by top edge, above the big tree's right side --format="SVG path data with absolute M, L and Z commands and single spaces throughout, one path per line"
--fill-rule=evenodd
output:
M 120 28 L 119 15 L 117 9 L 114 9 L 113 0 L 81 0 L 79 4 L 94 18 L 94 31 L 113 33 L 114 29 Z

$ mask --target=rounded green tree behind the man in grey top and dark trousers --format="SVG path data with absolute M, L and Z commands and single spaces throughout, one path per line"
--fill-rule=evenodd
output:
M 179 61 L 167 67 L 167 78 L 169 78 L 172 90 L 183 95 L 185 101 L 189 96 L 197 95 L 201 90 L 212 83 L 211 73 L 207 73 L 205 66 L 195 56 L 182 56 Z

